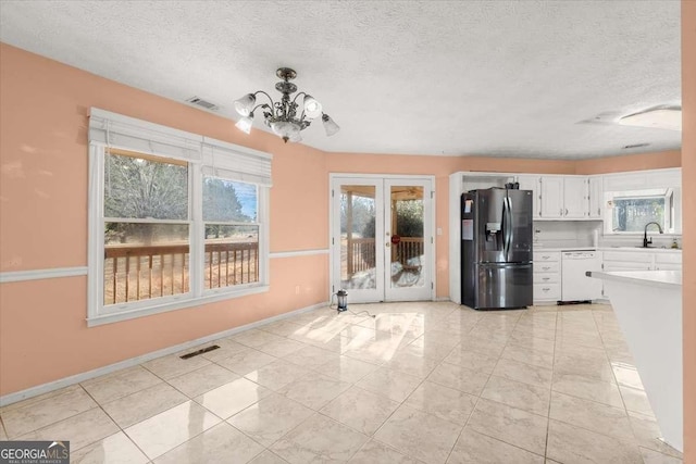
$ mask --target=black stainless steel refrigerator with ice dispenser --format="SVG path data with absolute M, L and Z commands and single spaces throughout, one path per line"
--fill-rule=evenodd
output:
M 532 191 L 471 190 L 461 196 L 463 304 L 504 310 L 532 304 Z

